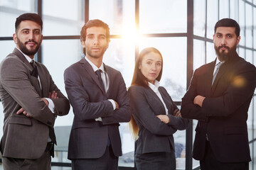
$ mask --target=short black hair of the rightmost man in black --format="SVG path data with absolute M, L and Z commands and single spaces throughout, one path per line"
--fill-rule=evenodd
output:
M 237 21 L 235 21 L 231 18 L 223 18 L 220 21 L 218 21 L 215 24 L 214 33 L 216 33 L 216 30 L 218 27 L 235 27 L 235 35 L 237 35 L 237 37 L 240 36 L 240 26 L 237 23 Z

